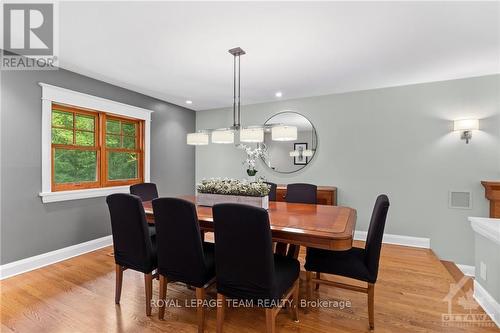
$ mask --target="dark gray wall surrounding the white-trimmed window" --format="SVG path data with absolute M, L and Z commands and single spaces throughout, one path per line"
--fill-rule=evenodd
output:
M 186 133 L 192 110 L 66 70 L 1 75 L 1 264 L 111 234 L 104 198 L 42 204 L 41 88 L 45 82 L 155 111 L 151 181 L 161 195 L 192 194 L 194 148 Z

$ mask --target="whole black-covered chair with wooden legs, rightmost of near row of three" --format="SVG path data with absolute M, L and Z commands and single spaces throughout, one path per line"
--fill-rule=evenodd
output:
M 292 297 L 292 315 L 297 321 L 300 265 L 296 259 L 273 254 L 267 210 L 241 204 L 218 204 L 212 210 L 217 332 L 222 332 L 226 297 L 265 307 L 268 333 L 275 332 L 280 301 Z

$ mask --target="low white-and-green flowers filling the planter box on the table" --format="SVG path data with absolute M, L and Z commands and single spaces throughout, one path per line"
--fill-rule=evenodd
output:
M 269 194 L 270 186 L 262 180 L 248 182 L 231 178 L 210 178 L 203 179 L 196 189 L 199 193 L 265 197 Z

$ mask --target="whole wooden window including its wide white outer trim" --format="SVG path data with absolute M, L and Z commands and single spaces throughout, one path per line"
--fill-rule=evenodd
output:
M 128 193 L 150 181 L 153 111 L 39 82 L 42 202 Z

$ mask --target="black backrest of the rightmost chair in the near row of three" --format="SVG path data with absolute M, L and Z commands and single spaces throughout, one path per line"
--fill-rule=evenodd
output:
M 266 299 L 275 288 L 269 216 L 241 204 L 213 206 L 217 291 L 239 299 Z

